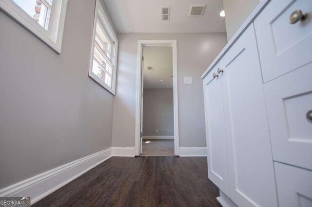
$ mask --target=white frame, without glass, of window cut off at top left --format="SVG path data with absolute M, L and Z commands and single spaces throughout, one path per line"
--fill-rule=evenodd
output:
M 60 54 L 67 0 L 53 0 L 48 30 L 30 17 L 12 0 L 0 0 L 0 9 L 15 19 L 41 41 Z M 35 9 L 35 8 L 34 8 Z

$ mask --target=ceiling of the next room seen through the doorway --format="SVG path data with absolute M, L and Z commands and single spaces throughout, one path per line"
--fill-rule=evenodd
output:
M 143 74 L 143 88 L 173 88 L 172 47 L 144 47 Z

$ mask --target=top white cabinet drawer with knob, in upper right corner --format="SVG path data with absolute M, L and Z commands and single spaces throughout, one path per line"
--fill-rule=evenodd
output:
M 289 18 L 295 10 L 308 16 L 291 24 Z M 272 0 L 254 25 L 264 82 L 312 61 L 311 0 Z

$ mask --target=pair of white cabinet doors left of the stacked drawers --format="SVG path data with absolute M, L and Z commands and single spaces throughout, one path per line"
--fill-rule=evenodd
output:
M 203 82 L 209 178 L 239 207 L 277 206 L 253 24 Z

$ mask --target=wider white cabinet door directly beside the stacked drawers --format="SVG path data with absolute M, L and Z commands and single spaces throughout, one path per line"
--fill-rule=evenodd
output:
M 277 206 L 263 84 L 251 24 L 221 59 L 230 198 L 239 207 Z

